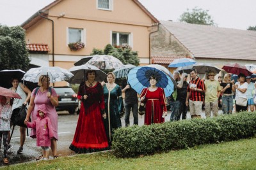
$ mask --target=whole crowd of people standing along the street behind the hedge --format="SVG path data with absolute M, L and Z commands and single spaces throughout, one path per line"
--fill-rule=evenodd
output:
M 253 99 L 256 96 L 255 79 L 239 74 L 237 82 L 232 80 L 230 74 L 214 77 L 216 73 L 209 71 L 205 78 L 200 78 L 196 69 L 188 74 L 173 73 L 177 86 L 170 97 L 165 96 L 164 89 L 157 87 L 157 77 L 152 75 L 148 79 L 149 87 L 138 94 L 127 81 L 122 81 L 122 86 L 115 83 L 115 74 L 108 73 L 107 82 L 96 81 L 97 72 L 87 71 L 86 81 L 79 85 L 77 99 L 81 101 L 79 118 L 77 120 L 74 139 L 69 146 L 76 153 L 90 153 L 109 150 L 113 141 L 114 130 L 122 127 L 120 113 L 125 110 L 125 127 L 130 125 L 130 113 L 134 118 L 133 124 L 138 125 L 139 103 L 145 104 L 145 125 L 163 123 L 167 115 L 166 104 L 170 104 L 170 122 L 187 118 L 189 108 L 191 118 L 202 118 L 202 108 L 205 108 L 205 117 L 218 116 L 221 108 L 223 114 L 234 111 L 255 111 Z M 17 92 L 21 99 L 8 101 L 0 96 L 0 146 L 1 138 L 4 143 L 4 164 L 8 164 L 7 153 L 12 149 L 10 141 L 10 117 L 12 110 L 28 105 L 28 112 L 24 124 L 31 129 L 31 138 L 36 138 L 36 146 L 42 148 L 42 155 L 36 160 L 49 159 L 49 148 L 52 157 L 58 158 L 58 106 L 56 91 L 49 87 L 49 76 L 39 78 L 39 87 L 32 92 L 19 83 L 18 78 L 12 79 L 12 90 Z M 122 93 L 125 94 L 123 100 Z M 235 97 L 234 97 L 235 96 Z M 168 99 L 168 100 L 166 100 Z M 31 118 L 31 122 L 29 122 Z M 17 153 L 22 153 L 26 139 L 26 128 L 20 127 L 20 147 Z

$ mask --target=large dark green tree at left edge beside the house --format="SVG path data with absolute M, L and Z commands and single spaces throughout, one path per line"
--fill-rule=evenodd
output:
M 0 70 L 22 69 L 29 67 L 25 31 L 20 26 L 0 25 Z

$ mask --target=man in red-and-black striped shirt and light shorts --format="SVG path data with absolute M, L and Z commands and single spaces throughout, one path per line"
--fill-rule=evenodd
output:
M 196 69 L 191 69 L 186 105 L 189 105 L 191 118 L 201 118 L 202 104 L 204 103 L 204 80 L 197 76 Z

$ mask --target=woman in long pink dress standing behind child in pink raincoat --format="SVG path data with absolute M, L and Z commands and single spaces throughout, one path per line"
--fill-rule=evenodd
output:
M 42 104 L 45 104 L 46 110 L 47 110 L 47 117 L 50 118 L 52 122 L 52 130 L 54 132 L 54 136 L 51 139 L 51 150 L 53 158 L 58 158 L 57 155 L 57 140 L 58 140 L 58 114 L 55 110 L 55 107 L 58 106 L 58 96 L 56 94 L 56 91 L 54 89 L 49 88 L 50 84 L 50 78 L 46 75 L 42 75 L 39 78 L 38 85 L 40 87 L 37 87 L 33 90 L 31 97 L 30 97 L 30 103 L 28 107 L 27 117 L 25 119 L 25 124 L 28 122 L 30 115 L 31 120 L 36 120 L 36 114 L 38 107 Z M 38 89 L 39 88 L 39 89 Z M 49 92 L 51 91 L 51 92 Z M 35 129 L 31 129 L 31 138 L 36 138 L 36 131 Z

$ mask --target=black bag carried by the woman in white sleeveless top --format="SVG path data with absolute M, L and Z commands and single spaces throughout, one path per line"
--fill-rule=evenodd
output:
M 24 120 L 27 117 L 27 110 L 28 108 L 24 104 L 22 104 L 22 106 L 20 106 L 19 108 L 15 108 L 15 110 L 12 111 L 11 121 L 13 125 L 27 127 L 24 124 Z

